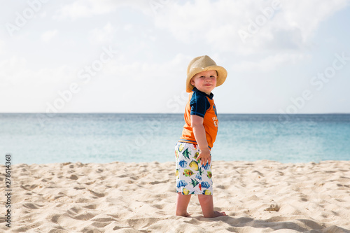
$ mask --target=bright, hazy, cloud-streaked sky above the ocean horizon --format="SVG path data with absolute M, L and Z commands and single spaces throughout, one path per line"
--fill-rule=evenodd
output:
M 1 113 L 183 113 L 191 59 L 218 113 L 350 113 L 350 1 L 6 1 Z

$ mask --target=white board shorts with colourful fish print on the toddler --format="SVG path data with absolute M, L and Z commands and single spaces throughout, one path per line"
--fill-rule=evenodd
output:
M 196 144 L 176 144 L 176 192 L 183 195 L 212 195 L 211 165 L 197 162 L 199 155 L 200 148 Z

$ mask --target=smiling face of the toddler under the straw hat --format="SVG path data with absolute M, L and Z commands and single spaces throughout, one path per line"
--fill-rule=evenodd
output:
M 202 71 L 197 73 L 191 79 L 191 84 L 201 92 L 210 94 L 216 87 L 216 78 L 218 77 L 216 71 Z

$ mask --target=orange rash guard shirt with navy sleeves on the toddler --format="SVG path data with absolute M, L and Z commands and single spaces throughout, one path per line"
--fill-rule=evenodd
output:
M 183 126 L 180 142 L 197 144 L 193 128 L 191 127 L 190 115 L 198 115 L 203 118 L 203 126 L 207 137 L 209 148 L 213 147 L 218 134 L 218 117 L 216 114 L 216 106 L 214 104 L 214 94 L 210 95 L 193 88 L 193 92 L 188 97 L 185 108 L 185 125 Z

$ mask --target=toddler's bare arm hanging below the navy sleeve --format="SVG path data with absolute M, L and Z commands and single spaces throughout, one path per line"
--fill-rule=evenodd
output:
M 191 115 L 191 126 L 193 128 L 193 134 L 200 147 L 200 156 L 197 157 L 197 161 L 201 159 L 201 164 L 211 163 L 210 150 L 208 147 L 207 136 L 203 126 L 203 118 L 198 115 Z

